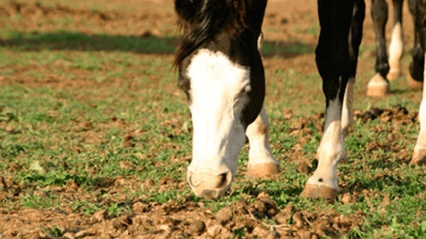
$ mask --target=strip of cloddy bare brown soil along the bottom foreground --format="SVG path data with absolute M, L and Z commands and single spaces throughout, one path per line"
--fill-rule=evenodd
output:
M 73 183 L 51 189 L 49 193 L 60 193 L 63 198 L 76 198 L 80 194 Z M 337 237 L 353 228 L 359 229 L 363 223 L 362 212 L 346 216 L 333 210 L 308 212 L 296 210 L 291 204 L 280 210 L 266 193 L 259 194 L 252 203 L 240 200 L 215 213 L 206 210 L 203 203 L 193 202 L 190 195 L 181 202 L 163 204 L 135 201 L 131 202 L 131 209 L 132 213 L 120 216 L 108 216 L 105 210 L 84 216 L 66 206 L 61 210 L 4 209 L 0 225 L 5 229 L 2 234 L 5 238 L 51 238 L 53 233 L 46 230 L 51 228 L 61 232 L 63 238 L 157 239 L 229 238 L 235 231 L 260 238 Z M 272 218 L 274 223 L 264 221 L 265 218 Z

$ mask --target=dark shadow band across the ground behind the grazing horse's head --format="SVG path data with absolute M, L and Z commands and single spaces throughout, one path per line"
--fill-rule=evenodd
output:
M 83 50 L 83 51 L 128 51 L 136 53 L 172 54 L 178 37 L 157 37 L 153 35 L 106 35 L 74 32 L 12 32 L 0 39 L 1 47 L 18 50 Z M 263 55 L 293 57 L 313 53 L 315 46 L 300 41 L 265 42 Z

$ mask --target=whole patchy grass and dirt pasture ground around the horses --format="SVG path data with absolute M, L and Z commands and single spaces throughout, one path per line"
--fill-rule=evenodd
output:
M 316 1 L 266 9 L 265 104 L 282 172 L 248 180 L 245 145 L 230 193 L 207 200 L 186 182 L 192 124 L 171 68 L 172 1 L 0 0 L 0 238 L 426 238 L 426 168 L 408 165 L 422 96 L 406 84 L 412 20 L 405 3 L 404 75 L 390 96 L 366 97 L 367 4 L 348 162 L 328 203 L 299 196 L 324 122 Z

